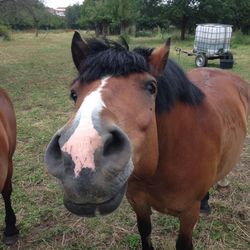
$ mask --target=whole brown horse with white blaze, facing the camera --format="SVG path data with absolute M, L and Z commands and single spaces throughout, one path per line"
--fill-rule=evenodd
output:
M 110 213 L 127 192 L 143 249 L 153 249 L 151 208 L 177 216 L 176 248 L 193 248 L 200 202 L 239 159 L 250 112 L 244 80 L 209 68 L 186 76 L 169 47 L 129 51 L 75 33 L 76 112 L 45 155 L 75 214 Z

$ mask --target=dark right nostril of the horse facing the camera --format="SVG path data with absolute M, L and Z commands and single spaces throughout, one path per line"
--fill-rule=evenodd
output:
M 109 156 L 120 152 L 126 145 L 126 137 L 119 130 L 112 130 L 104 143 L 103 155 Z

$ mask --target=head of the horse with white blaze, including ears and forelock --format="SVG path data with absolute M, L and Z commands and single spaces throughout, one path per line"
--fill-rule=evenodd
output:
M 108 40 L 72 39 L 78 77 L 71 85 L 76 111 L 48 145 L 45 162 L 63 184 L 64 204 L 82 216 L 116 209 L 131 174 L 152 176 L 158 161 L 156 78 L 170 40 L 134 49 Z

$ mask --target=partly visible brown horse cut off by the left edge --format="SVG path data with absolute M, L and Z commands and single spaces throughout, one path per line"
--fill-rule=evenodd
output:
M 7 93 L 0 88 L 0 191 L 5 205 L 4 242 L 14 244 L 18 237 L 16 216 L 11 207 L 12 156 L 16 148 L 16 118 Z

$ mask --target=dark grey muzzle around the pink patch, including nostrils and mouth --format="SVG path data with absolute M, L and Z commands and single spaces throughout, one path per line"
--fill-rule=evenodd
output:
M 55 134 L 45 153 L 49 173 L 62 182 L 65 207 L 80 216 L 113 212 L 122 201 L 134 168 L 130 141 L 120 128 L 109 126 L 100 137 L 101 144 L 92 150 L 94 166 L 83 166 L 77 174 L 73 156 L 62 150 L 69 138 L 63 129 Z

